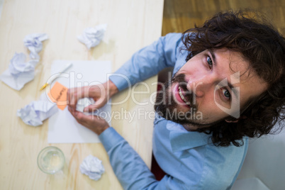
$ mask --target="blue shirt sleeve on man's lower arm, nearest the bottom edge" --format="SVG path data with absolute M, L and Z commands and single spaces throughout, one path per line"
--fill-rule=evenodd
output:
M 123 189 L 187 189 L 183 181 L 165 175 L 157 181 L 137 152 L 113 128 L 99 135 Z

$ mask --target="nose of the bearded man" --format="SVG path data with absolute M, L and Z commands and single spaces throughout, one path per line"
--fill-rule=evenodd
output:
M 206 94 L 206 91 L 211 89 L 211 86 L 215 84 L 216 77 L 211 75 L 203 75 L 189 79 L 187 83 L 187 89 L 191 91 L 196 97 L 202 97 Z

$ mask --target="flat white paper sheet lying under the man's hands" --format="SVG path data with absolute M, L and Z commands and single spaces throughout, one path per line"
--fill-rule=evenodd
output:
M 109 61 L 68 61 L 57 60 L 52 63 L 51 75 L 55 74 L 68 62 L 72 62 L 65 74 L 55 79 L 67 88 L 74 86 L 88 86 L 104 83 L 111 74 L 111 62 Z M 47 88 L 47 90 L 50 88 Z M 101 111 L 111 113 L 111 105 L 106 104 Z M 107 118 L 109 124 L 110 119 Z M 48 121 L 48 143 L 100 143 L 98 135 L 77 123 L 67 107 L 59 110 Z

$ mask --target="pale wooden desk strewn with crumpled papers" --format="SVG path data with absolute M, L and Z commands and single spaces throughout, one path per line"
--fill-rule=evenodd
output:
M 0 82 L 0 189 L 121 189 L 113 174 L 104 147 L 95 144 L 48 144 L 47 122 L 40 127 L 26 125 L 16 116 L 16 111 L 40 97 L 39 88 L 50 76 L 53 60 L 111 60 L 113 71 L 121 67 L 136 50 L 149 45 L 161 35 L 163 0 L 13 0 L 5 1 L 0 20 L 0 72 L 9 67 L 15 52 L 28 50 L 23 38 L 30 33 L 47 33 L 43 42 L 35 79 L 20 91 Z M 106 41 L 92 50 L 79 43 L 77 35 L 84 28 L 107 23 Z M 148 79 L 147 84 L 156 81 Z M 150 93 L 135 94 L 135 101 L 147 102 Z M 147 91 L 143 85 L 135 91 Z M 121 101 L 123 91 L 113 98 Z M 152 117 L 139 114 L 141 108 L 152 111 L 152 105 L 139 106 L 134 99 L 112 107 L 112 111 L 135 111 L 130 121 L 121 118 L 112 121 L 118 133 L 128 140 L 150 167 L 152 152 Z M 63 135 L 68 135 L 63 134 Z M 37 156 L 48 145 L 59 147 L 65 154 L 62 173 L 44 174 L 38 169 Z M 79 165 L 88 155 L 103 160 L 106 172 L 99 181 L 93 181 L 79 172 Z

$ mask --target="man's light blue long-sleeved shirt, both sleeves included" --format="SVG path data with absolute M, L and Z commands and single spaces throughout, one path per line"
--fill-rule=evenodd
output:
M 164 67 L 174 67 L 175 73 L 185 64 L 187 55 L 180 47 L 183 47 L 181 33 L 170 33 L 136 52 L 110 79 L 121 91 Z M 244 138 L 242 147 L 216 147 L 210 137 L 157 116 L 153 154 L 167 173 L 157 181 L 116 130 L 108 128 L 99 135 L 123 189 L 230 189 L 245 159 L 248 140 Z

